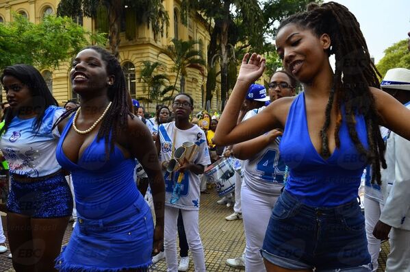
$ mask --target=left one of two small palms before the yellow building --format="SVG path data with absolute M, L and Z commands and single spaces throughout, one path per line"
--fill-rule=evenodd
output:
M 168 76 L 163 73 L 155 73 L 157 69 L 164 68 L 164 64 L 161 62 L 150 62 L 149 60 L 144 60 L 142 62 L 142 66 L 141 80 L 144 82 L 142 90 L 144 92 L 148 91 L 148 96 L 137 97 L 137 99 L 148 103 L 147 110 L 149 111 L 149 103 L 169 101 L 169 98 L 172 97 L 172 95 L 169 97 L 162 97 L 175 87 L 167 84 L 169 83 Z

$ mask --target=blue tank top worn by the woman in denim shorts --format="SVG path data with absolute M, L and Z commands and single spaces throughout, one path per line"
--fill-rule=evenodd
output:
M 342 108 L 342 112 L 344 109 Z M 355 116 L 356 131 L 368 149 L 366 123 Z M 346 120 L 339 130 L 340 147 L 324 160 L 313 147 L 307 128 L 305 93 L 290 106 L 279 150 L 290 168 L 285 189 L 302 203 L 315 207 L 334 207 L 357 198 L 366 156 L 361 156 L 350 139 Z

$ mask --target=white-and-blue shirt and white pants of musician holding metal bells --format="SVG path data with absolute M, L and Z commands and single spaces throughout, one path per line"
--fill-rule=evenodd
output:
M 198 153 L 193 158 L 194 164 L 207 166 L 211 164 L 205 134 L 201 128 L 194 125 L 190 129 L 181 130 L 175 126 L 175 122 L 159 125 L 158 134 L 160 139 L 160 162 L 169 161 L 173 151 L 181 147 L 185 142 L 192 142 L 198 145 Z M 177 272 L 177 218 L 178 210 L 181 209 L 183 226 L 188 240 L 188 245 L 194 259 L 195 271 L 205 271 L 205 256 L 201 237 L 199 236 L 198 214 L 200 206 L 200 184 L 198 175 L 186 171 L 181 173 L 181 195 L 176 203 L 170 203 L 172 192 L 177 183 L 179 173 L 168 173 L 164 171 L 166 201 L 165 201 L 165 227 L 164 227 L 164 248 L 168 271 Z

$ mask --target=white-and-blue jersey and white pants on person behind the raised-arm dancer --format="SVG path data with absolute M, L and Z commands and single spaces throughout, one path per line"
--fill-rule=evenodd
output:
M 266 107 L 251 110 L 246 119 Z M 286 166 L 279 156 L 279 138 L 242 164 L 244 184 L 241 188 L 242 217 L 246 236 L 245 271 L 266 271 L 259 250 L 274 203 L 281 194 Z

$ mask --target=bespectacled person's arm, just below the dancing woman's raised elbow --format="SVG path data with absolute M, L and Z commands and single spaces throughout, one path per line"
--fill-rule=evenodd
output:
M 281 135 L 282 132 L 280 130 L 273 129 L 267 134 L 261 135 L 252 140 L 247 140 L 244 143 L 233 145 L 233 156 L 240 160 L 251 159 Z

